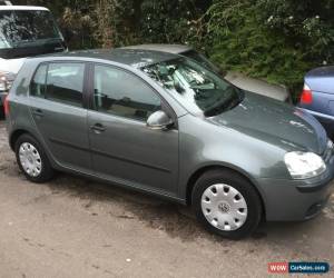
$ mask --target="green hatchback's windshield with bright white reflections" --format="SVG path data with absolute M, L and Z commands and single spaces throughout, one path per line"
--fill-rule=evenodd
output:
M 234 108 L 242 100 L 238 88 L 193 59 L 163 61 L 141 70 L 196 115 L 216 116 Z

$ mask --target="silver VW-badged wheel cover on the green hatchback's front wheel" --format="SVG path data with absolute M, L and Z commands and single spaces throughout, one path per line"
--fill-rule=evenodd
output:
M 237 230 L 247 219 L 245 198 L 228 185 L 217 183 L 208 187 L 203 192 L 200 205 L 206 220 L 219 230 Z

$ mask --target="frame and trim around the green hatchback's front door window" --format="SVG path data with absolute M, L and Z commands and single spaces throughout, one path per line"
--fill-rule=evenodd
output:
M 135 78 L 137 78 L 139 81 L 144 82 L 148 88 L 151 89 L 151 91 L 160 99 L 161 101 L 161 110 L 164 112 L 166 112 L 171 119 L 173 121 L 175 122 L 175 129 L 178 129 L 178 120 L 177 120 L 177 116 L 174 111 L 174 109 L 170 107 L 170 105 L 165 100 L 165 98 L 150 85 L 148 83 L 146 80 L 144 80 L 141 77 L 139 77 L 138 75 L 136 75 L 135 72 L 128 70 L 128 69 L 125 69 L 125 68 L 121 68 L 119 66 L 116 66 L 116 64 L 110 64 L 110 63 L 104 63 L 104 62 L 89 62 L 89 77 L 88 77 L 88 81 L 89 81 L 89 106 L 88 106 L 88 109 L 89 110 L 92 110 L 95 112 L 98 112 L 98 113 L 102 113 L 102 115 L 108 115 L 110 117 L 118 117 L 118 118 L 121 118 L 121 119 L 126 119 L 126 120 L 134 120 L 134 121 L 137 121 L 137 122 L 141 122 L 141 123 L 146 123 L 145 120 L 137 120 L 137 119 L 134 119 L 134 118 L 128 118 L 128 117 L 124 117 L 124 116 L 120 116 L 120 115 L 112 115 L 112 113 L 108 113 L 108 112 L 104 112 L 104 111 L 99 111 L 96 109 L 95 107 L 95 68 L 96 66 L 100 66 L 100 67 L 107 67 L 107 68 L 111 68 L 111 69 L 117 69 L 117 70 L 121 70 L 121 71 L 125 71 L 131 76 L 134 76 Z

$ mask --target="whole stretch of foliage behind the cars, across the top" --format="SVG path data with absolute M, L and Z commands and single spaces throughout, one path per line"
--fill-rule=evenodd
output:
M 71 48 L 188 43 L 225 70 L 299 91 L 333 63 L 334 0 L 18 0 L 49 7 L 75 30 Z

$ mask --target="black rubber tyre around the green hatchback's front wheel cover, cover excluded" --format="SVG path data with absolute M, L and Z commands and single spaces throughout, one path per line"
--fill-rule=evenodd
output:
M 226 183 L 237 189 L 247 203 L 246 222 L 237 230 L 224 231 L 212 226 L 202 211 L 203 192 L 215 183 Z M 229 239 L 240 239 L 249 236 L 258 226 L 262 218 L 262 202 L 254 186 L 243 176 L 229 170 L 213 170 L 204 173 L 196 182 L 193 190 L 193 208 L 198 221 L 204 227 L 216 235 Z

